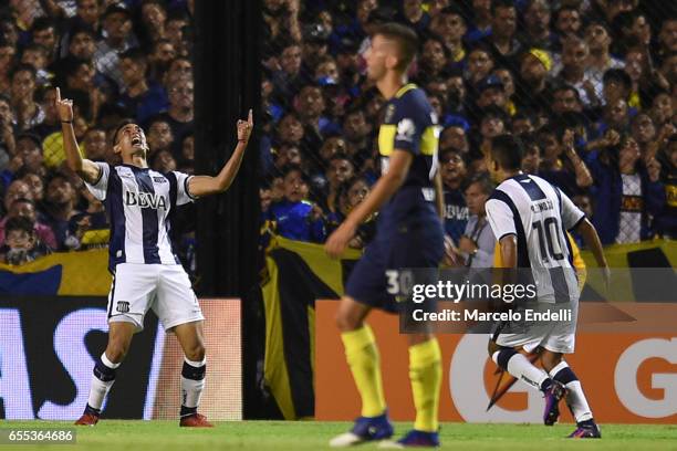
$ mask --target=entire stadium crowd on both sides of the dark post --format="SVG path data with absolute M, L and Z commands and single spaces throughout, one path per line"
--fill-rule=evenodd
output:
M 267 230 L 323 242 L 378 178 L 369 29 L 419 35 L 410 78 L 439 124 L 446 230 L 485 231 L 483 153 L 519 135 L 523 169 L 559 186 L 605 244 L 677 237 L 677 12 L 659 0 L 264 0 L 258 127 Z M 84 155 L 145 128 L 154 169 L 192 171 L 192 1 L 12 0 L 0 7 L 0 261 L 106 245 L 103 206 L 64 165 L 54 86 Z M 467 190 L 471 192 L 468 193 Z M 468 200 L 468 196 L 479 199 Z M 195 214 L 174 239 L 195 269 Z M 478 219 L 479 218 L 479 219 Z M 351 245 L 373 237 L 363 224 Z M 470 223 L 470 226 L 468 226 Z M 486 240 L 486 239 L 483 239 Z

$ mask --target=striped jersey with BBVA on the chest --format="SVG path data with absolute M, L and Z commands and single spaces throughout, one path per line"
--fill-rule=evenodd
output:
M 187 174 L 160 174 L 132 165 L 96 162 L 100 177 L 87 189 L 110 217 L 108 270 L 118 263 L 178 264 L 169 239 L 169 214 L 195 200 Z

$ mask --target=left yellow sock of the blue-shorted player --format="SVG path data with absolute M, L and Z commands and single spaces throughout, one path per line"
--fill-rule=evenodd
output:
M 362 398 L 362 416 L 383 415 L 386 405 L 381 377 L 381 359 L 372 328 L 365 324 L 356 331 L 342 333 L 341 339 L 345 347 L 345 358 Z

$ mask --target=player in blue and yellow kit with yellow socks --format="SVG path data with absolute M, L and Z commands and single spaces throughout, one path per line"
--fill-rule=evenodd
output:
M 441 217 L 444 199 L 437 170 L 439 129 L 425 93 L 407 84 L 407 70 L 417 50 L 414 31 L 386 23 L 372 33 L 366 51 L 367 76 L 386 99 L 378 133 L 381 178 L 365 200 L 332 233 L 326 252 L 336 258 L 357 227 L 379 210 L 376 238 L 357 262 L 341 298 L 336 323 L 345 355 L 362 398 L 362 413 L 351 432 L 330 444 L 347 447 L 384 440 L 386 447 L 439 445 L 437 410 L 441 381 L 441 354 L 429 333 L 408 335 L 409 377 L 416 422 L 398 442 L 388 420 L 376 340 L 365 323 L 372 308 L 396 313 L 398 271 L 437 269 L 444 254 Z

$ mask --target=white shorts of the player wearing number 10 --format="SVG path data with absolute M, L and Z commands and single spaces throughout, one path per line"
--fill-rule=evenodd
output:
M 553 308 L 554 305 L 554 308 Z M 553 353 L 572 354 L 576 344 L 576 319 L 579 303 L 550 304 L 546 310 L 571 310 L 571 321 L 558 321 L 530 325 L 519 332 L 511 333 L 510 325 L 500 333 L 496 343 L 506 347 L 523 347 L 528 353 L 541 346 Z

